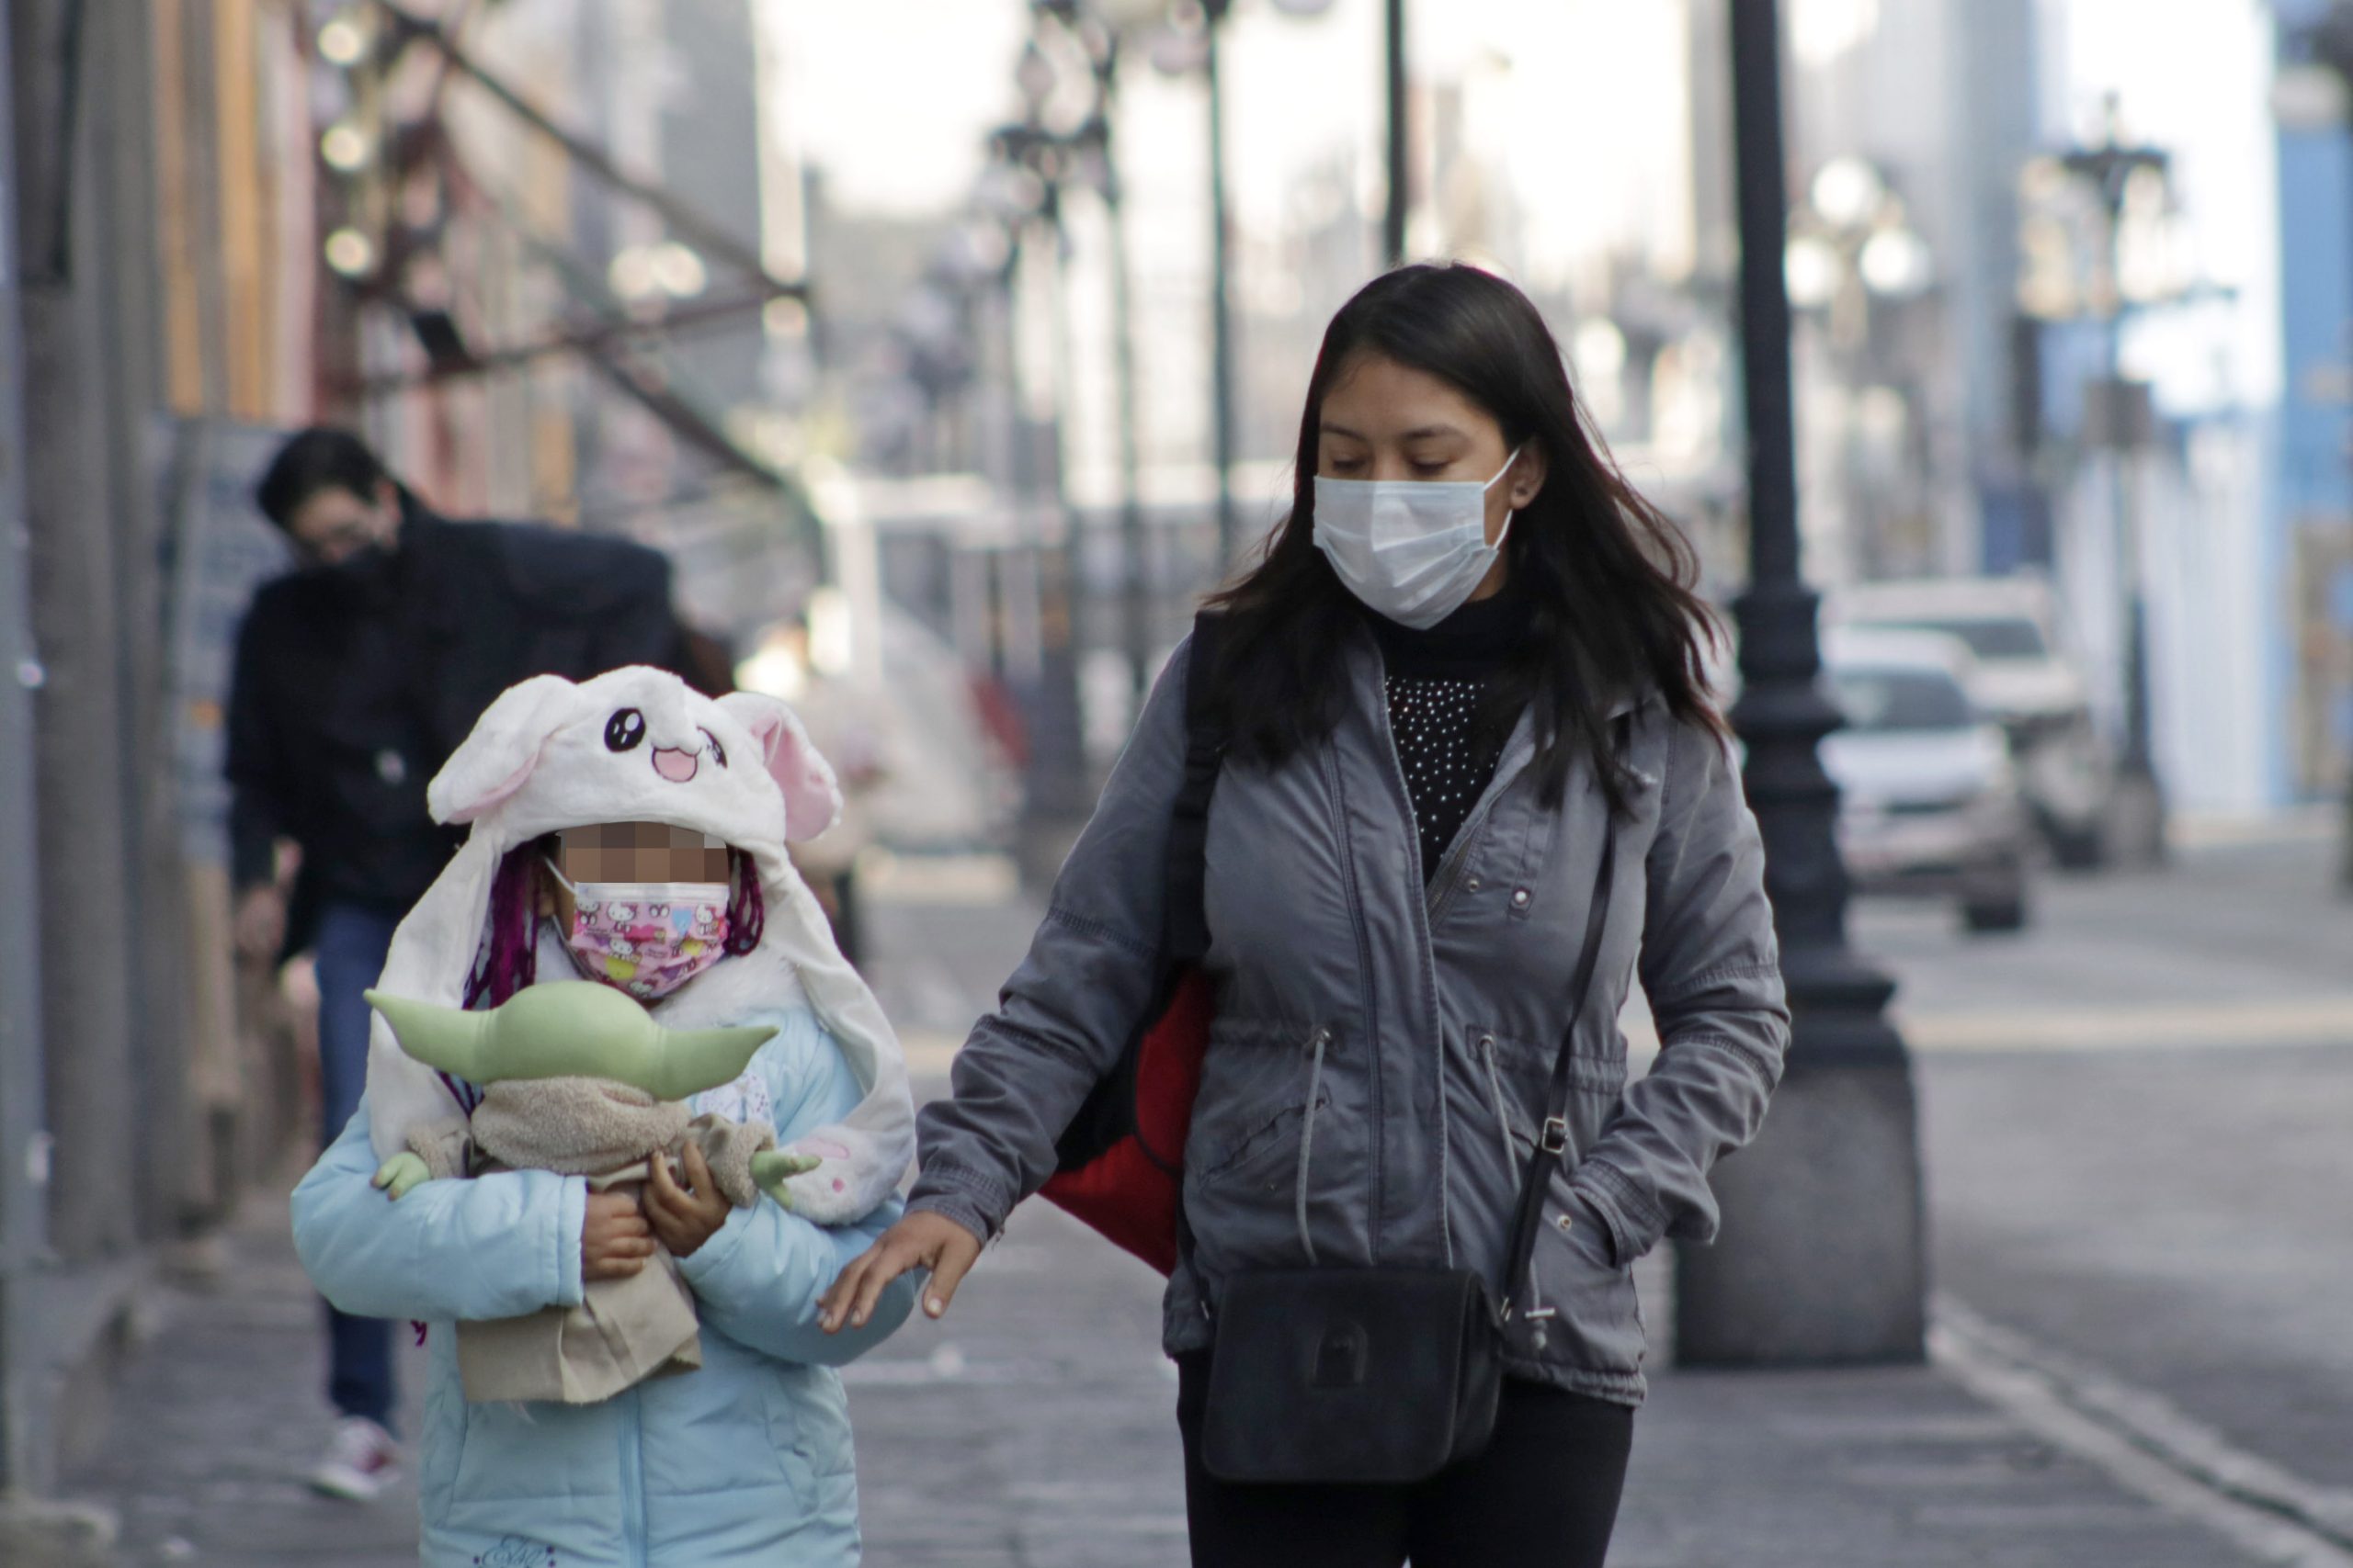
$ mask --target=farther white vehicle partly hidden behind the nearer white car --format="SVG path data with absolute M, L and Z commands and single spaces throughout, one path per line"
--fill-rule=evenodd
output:
M 2082 670 L 2038 578 L 1922 578 L 1838 592 L 1826 625 L 1941 632 L 1969 646 L 1969 696 L 2009 736 L 2019 790 L 2059 865 L 2099 865 L 2115 755 L 2092 724 Z

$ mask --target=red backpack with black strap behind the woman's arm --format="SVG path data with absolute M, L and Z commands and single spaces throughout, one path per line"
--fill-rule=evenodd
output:
M 1202 907 L 1209 795 L 1226 755 L 1226 731 L 1212 717 L 1209 672 L 1217 616 L 1193 618 L 1186 656 L 1184 785 L 1169 811 L 1169 844 L 1153 999 L 1120 1051 L 1120 1063 L 1087 1093 L 1054 1143 L 1056 1171 L 1047 1201 L 1071 1211 L 1162 1274 L 1176 1267 L 1176 1206 L 1184 1190 L 1184 1140 L 1193 1126 L 1200 1063 L 1209 1051 L 1214 997 L 1200 971 L 1209 952 Z

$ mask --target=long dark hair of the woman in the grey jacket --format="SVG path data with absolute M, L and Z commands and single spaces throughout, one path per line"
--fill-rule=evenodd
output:
M 1704 656 L 1720 635 L 1694 592 L 1699 559 L 1682 531 L 1635 494 L 1569 390 L 1560 346 L 1515 287 L 1473 266 L 1407 266 L 1374 277 L 1325 329 L 1306 411 L 1292 510 L 1259 564 L 1209 597 L 1226 616 L 1217 701 L 1242 757 L 1280 762 L 1332 733 L 1351 621 L 1367 614 L 1315 548 L 1315 451 L 1322 400 L 1358 355 L 1438 376 L 1546 456 L 1546 480 L 1504 543 L 1511 581 L 1532 599 L 1534 635 L 1489 686 L 1487 731 L 1537 712 L 1544 788 L 1560 799 L 1584 752 L 1612 811 L 1626 785 L 1607 733 L 1619 693 L 1657 686 L 1678 719 L 1722 731 Z

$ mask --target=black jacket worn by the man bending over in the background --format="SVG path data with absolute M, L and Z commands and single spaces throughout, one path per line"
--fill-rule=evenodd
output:
M 671 567 L 645 545 L 402 503 L 400 548 L 365 576 L 264 583 L 238 630 L 228 696 L 238 889 L 301 846 L 287 950 L 322 903 L 402 914 L 464 837 L 426 783 L 492 698 L 532 675 L 682 670 Z

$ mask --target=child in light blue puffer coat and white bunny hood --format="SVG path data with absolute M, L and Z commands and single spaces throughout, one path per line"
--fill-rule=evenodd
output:
M 816 1300 L 899 1213 L 878 1173 L 904 1168 L 906 1091 L 784 858 L 786 830 L 828 816 L 831 776 L 769 698 L 713 703 L 652 670 L 558 686 L 544 708 L 504 696 L 482 726 L 506 743 L 461 748 L 435 778 L 435 809 L 475 837 L 376 992 L 456 1016 L 588 980 L 664 1041 L 774 1037 L 685 1103 L 591 1077 L 482 1086 L 384 1051 L 379 1105 L 294 1194 L 296 1246 L 339 1307 L 424 1331 L 424 1563 L 854 1563 L 835 1368 L 896 1328 L 911 1291 L 852 1342 L 824 1333 Z M 520 790 L 496 795 L 518 766 Z M 753 1187 L 772 1147 L 814 1168 Z M 607 1187 L 600 1161 L 642 1178 Z M 647 1371 L 626 1314 L 584 1302 L 664 1274 L 699 1321 L 687 1354 Z

